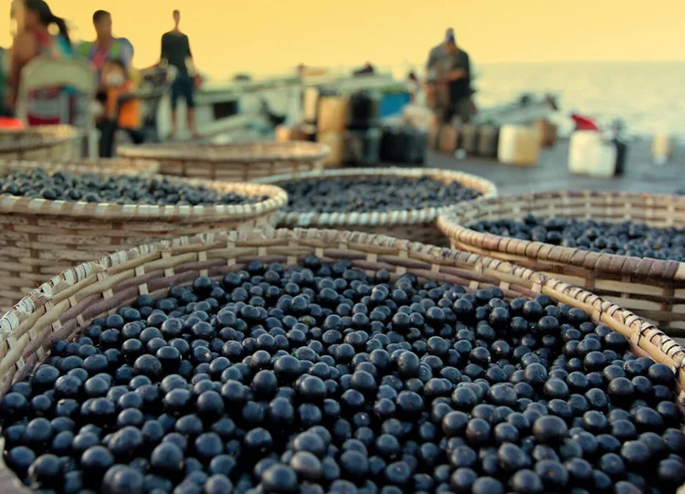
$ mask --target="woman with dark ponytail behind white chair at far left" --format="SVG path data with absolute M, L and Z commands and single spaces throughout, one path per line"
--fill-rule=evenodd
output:
M 13 110 L 16 108 L 21 71 L 28 62 L 41 56 L 71 58 L 73 55 L 63 18 L 55 16 L 43 0 L 25 0 L 24 7 L 24 26 L 15 37 L 10 61 L 9 100 Z M 53 26 L 57 28 L 57 34 L 51 33 Z M 68 109 L 64 105 L 68 105 Z M 28 124 L 72 123 L 76 116 L 75 108 L 72 89 L 44 88 L 31 91 L 27 101 Z M 69 121 L 62 121 L 64 114 L 68 114 Z

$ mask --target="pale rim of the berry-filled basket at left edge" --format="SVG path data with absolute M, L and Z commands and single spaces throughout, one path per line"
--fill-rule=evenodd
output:
M 117 160 L 117 158 L 114 158 Z M 152 160 L 140 160 L 141 163 L 150 163 L 154 167 Z M 0 161 L 0 171 L 3 167 L 18 164 L 20 168 L 30 168 L 33 162 L 12 162 Z M 158 164 L 158 163 L 157 163 Z M 16 168 L 16 166 L 14 166 Z M 110 167 L 100 169 L 90 169 L 71 163 L 54 163 L 53 165 L 43 165 L 39 168 L 44 170 L 66 170 L 71 173 L 80 174 L 99 174 L 109 176 L 130 176 L 141 174 L 140 170 L 117 169 L 117 165 L 112 163 Z M 156 170 L 155 170 L 156 172 Z M 51 215 L 51 216 L 73 216 L 78 218 L 97 218 L 97 219 L 118 219 L 118 220 L 153 220 L 153 219 L 174 219 L 183 218 L 201 219 L 230 219 L 247 218 L 276 211 L 283 205 L 288 204 L 288 194 L 275 185 L 269 184 L 250 184 L 240 182 L 219 182 L 209 181 L 198 178 L 174 177 L 162 174 L 146 174 L 150 178 L 157 179 L 173 184 L 189 184 L 192 186 L 204 186 L 220 192 L 235 192 L 246 196 L 268 197 L 265 201 L 260 201 L 249 205 L 117 205 L 112 203 L 88 203 L 85 201 L 52 201 L 47 199 L 36 199 L 30 197 L 0 194 L 0 214 L 23 214 L 23 215 Z

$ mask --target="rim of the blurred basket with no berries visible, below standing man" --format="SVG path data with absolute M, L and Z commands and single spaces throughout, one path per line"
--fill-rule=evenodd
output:
M 255 150 L 259 151 L 254 152 Z M 117 148 L 117 154 L 126 158 L 220 164 L 322 160 L 330 152 L 331 147 L 328 144 L 308 141 L 248 141 L 228 144 L 175 142 L 172 144 L 124 144 Z

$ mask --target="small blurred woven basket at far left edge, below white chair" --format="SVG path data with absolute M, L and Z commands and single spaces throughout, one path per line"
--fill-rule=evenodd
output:
M 75 161 L 81 156 L 81 132 L 69 125 L 0 130 L 1 160 Z

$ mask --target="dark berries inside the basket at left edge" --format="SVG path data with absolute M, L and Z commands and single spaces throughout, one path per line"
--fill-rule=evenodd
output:
M 266 196 L 220 193 L 202 185 L 172 183 L 165 178 L 10 170 L 0 177 L 0 196 L 19 195 L 50 201 L 85 201 L 116 205 L 248 205 Z

